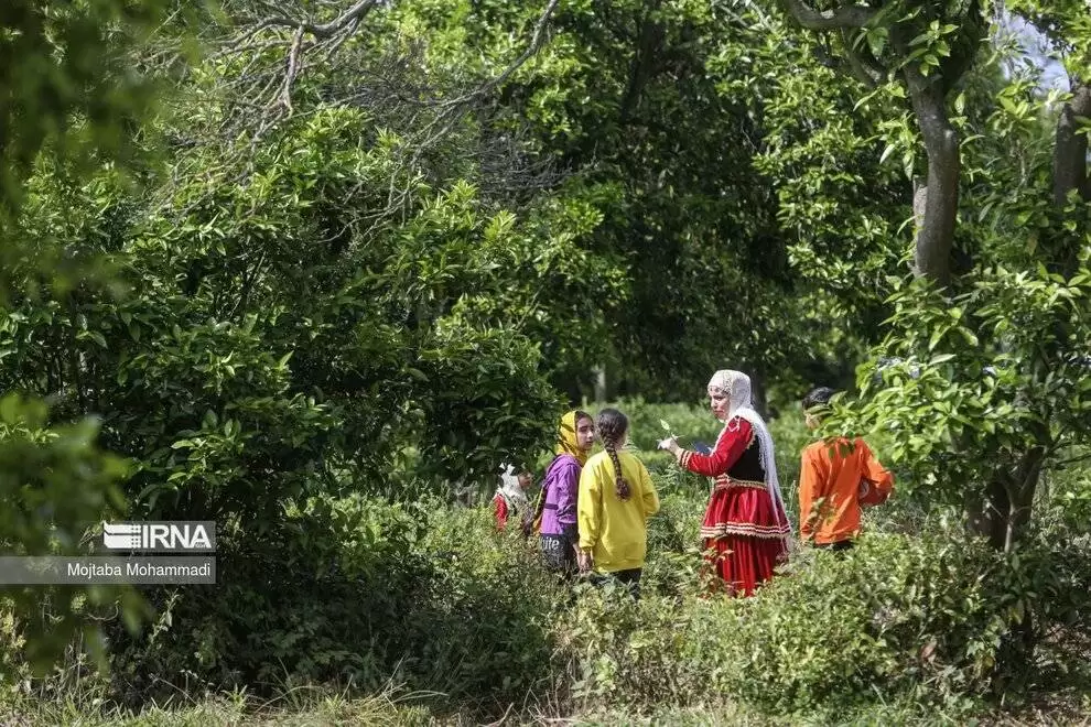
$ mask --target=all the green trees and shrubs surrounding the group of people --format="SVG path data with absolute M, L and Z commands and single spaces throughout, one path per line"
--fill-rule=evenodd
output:
M 215 520 L 220 585 L 10 589 L 6 671 L 108 645 L 115 704 L 283 680 L 495 718 L 958 712 L 1071 664 L 1084 3 L 182 4 L 0 10 L 0 543 Z M 650 452 L 714 440 L 727 367 L 791 507 L 811 384 L 898 474 L 855 553 L 745 603 L 698 597 L 703 482 Z M 649 597 L 573 603 L 447 506 L 617 398 L 665 499 Z

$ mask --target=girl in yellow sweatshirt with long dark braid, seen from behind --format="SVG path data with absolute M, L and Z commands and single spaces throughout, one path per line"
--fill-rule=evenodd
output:
M 580 475 L 580 571 L 597 569 L 639 598 L 648 518 L 659 512 L 659 495 L 644 463 L 620 452 L 629 431 L 625 414 L 604 409 L 597 428 L 605 452 L 588 459 Z

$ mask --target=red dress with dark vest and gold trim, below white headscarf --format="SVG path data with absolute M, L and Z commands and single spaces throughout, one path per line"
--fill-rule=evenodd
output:
M 771 578 L 787 557 L 791 530 L 784 504 L 766 482 L 761 454 L 754 426 L 739 416 L 728 420 L 712 454 L 678 452 L 682 467 L 713 478 L 701 523 L 705 557 L 728 590 L 744 596 Z

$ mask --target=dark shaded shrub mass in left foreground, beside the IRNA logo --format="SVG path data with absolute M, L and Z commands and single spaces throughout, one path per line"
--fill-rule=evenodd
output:
M 550 686 L 550 614 L 565 592 L 485 508 L 314 498 L 283 529 L 220 547 L 214 589 L 156 592 L 162 628 L 119 634 L 118 699 L 395 683 L 492 714 Z

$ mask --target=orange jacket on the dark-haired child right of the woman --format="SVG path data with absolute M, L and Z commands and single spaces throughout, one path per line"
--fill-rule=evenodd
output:
M 863 440 L 823 440 L 803 449 L 799 471 L 799 534 L 825 545 L 860 533 L 861 504 L 884 502 L 894 475 Z

